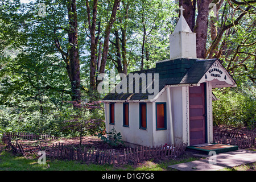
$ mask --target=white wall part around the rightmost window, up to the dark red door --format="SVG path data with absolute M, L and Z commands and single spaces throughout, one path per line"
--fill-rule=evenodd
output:
M 153 105 L 153 137 L 154 145 L 172 144 L 171 142 L 171 118 L 174 132 L 174 144 L 189 142 L 189 105 L 188 86 L 170 88 L 171 111 L 168 110 L 167 90 L 165 90 L 155 102 L 166 102 L 167 109 L 167 130 L 156 130 L 155 102 Z M 170 116 L 172 114 L 172 116 Z

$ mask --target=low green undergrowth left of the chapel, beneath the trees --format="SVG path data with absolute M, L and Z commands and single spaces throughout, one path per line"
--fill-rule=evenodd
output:
M 26 103 L 27 104 L 27 103 Z M 28 106 L 28 105 L 27 105 Z M 72 104 L 65 103 L 62 110 L 55 107 L 43 107 L 40 105 L 30 107 L 0 109 L 0 133 L 3 132 L 27 132 L 48 133 L 56 137 L 80 137 L 94 135 L 104 129 L 104 113 L 101 108 L 93 111 L 73 110 Z M 82 117 L 77 118 L 77 115 Z

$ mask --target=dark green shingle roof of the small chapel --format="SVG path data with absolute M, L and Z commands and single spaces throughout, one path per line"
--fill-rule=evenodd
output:
M 204 76 L 205 72 L 212 66 L 217 59 L 197 60 L 197 59 L 175 59 L 156 63 L 156 68 L 145 69 L 143 71 L 131 72 L 138 73 L 152 73 L 152 85 L 154 85 L 154 73 L 159 73 L 159 92 L 165 85 L 176 84 L 197 84 Z M 127 92 L 129 90 L 129 76 L 127 75 Z M 148 79 L 148 77 L 147 77 Z M 148 84 L 148 83 L 147 83 Z M 152 93 L 142 93 L 141 80 L 139 82 L 139 93 L 109 93 L 102 101 L 114 100 L 148 100 L 148 96 Z M 148 86 L 148 85 L 147 85 Z M 133 81 L 133 89 L 135 88 L 135 81 Z M 135 91 L 135 90 L 134 90 Z

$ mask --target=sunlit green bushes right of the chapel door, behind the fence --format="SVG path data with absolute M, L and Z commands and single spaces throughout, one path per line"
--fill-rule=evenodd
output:
M 237 128 L 256 127 L 256 90 L 254 88 L 217 89 L 213 101 L 213 124 Z

